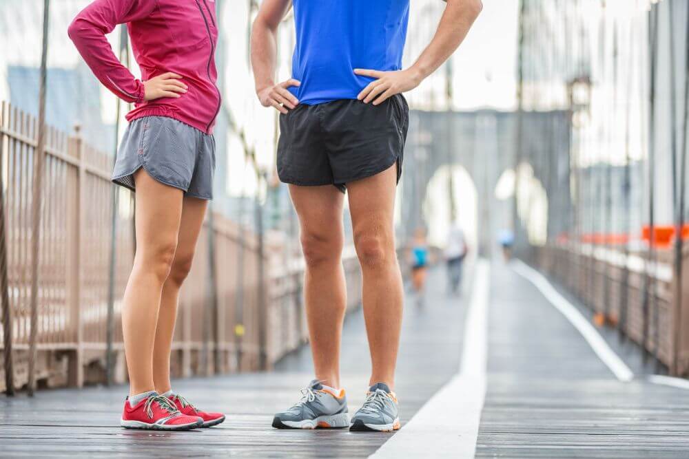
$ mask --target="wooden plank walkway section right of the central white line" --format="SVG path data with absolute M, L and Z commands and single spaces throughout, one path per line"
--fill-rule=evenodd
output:
M 689 391 L 648 383 L 639 352 L 618 381 L 528 281 L 500 264 L 491 281 L 477 457 L 689 457 Z

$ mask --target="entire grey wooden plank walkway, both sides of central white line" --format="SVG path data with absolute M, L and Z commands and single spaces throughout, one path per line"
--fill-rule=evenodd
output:
M 445 295 L 443 270 L 429 281 L 426 306 L 408 298 L 405 310 L 397 381 L 403 428 L 460 367 L 466 301 Z M 223 425 L 200 431 L 121 429 L 124 387 L 44 391 L 33 399 L 0 396 L 0 457 L 363 458 L 393 438 L 271 429 L 272 414 L 294 403 L 311 378 L 309 353 L 304 348 L 288 356 L 269 374 L 176 381 L 194 403 L 229 414 Z M 626 348 L 623 358 L 630 353 Z M 342 345 L 351 411 L 364 398 L 369 370 L 363 317 L 355 312 L 345 323 Z M 688 391 L 643 376 L 617 381 L 536 288 L 500 261 L 493 263 L 477 457 L 686 458 L 688 427 Z

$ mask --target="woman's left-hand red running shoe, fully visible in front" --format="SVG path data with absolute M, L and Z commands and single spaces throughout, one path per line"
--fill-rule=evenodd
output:
M 127 397 L 120 425 L 125 429 L 190 430 L 201 427 L 203 420 L 181 414 L 168 398 L 156 394 L 134 407 L 130 406 Z

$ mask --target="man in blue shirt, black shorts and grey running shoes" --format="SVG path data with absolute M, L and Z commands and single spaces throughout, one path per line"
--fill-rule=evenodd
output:
M 294 3 L 292 78 L 277 83 L 280 21 Z M 306 259 L 305 301 L 316 379 L 273 427 L 399 429 L 393 392 L 402 324 L 402 277 L 395 253 L 396 184 L 409 127 L 402 96 L 462 43 L 480 0 L 447 0 L 431 43 L 402 69 L 409 0 L 263 0 L 251 34 L 256 93 L 280 111 L 278 175 L 289 184 Z M 349 420 L 340 389 L 344 191 L 362 268 L 372 374 L 364 405 Z

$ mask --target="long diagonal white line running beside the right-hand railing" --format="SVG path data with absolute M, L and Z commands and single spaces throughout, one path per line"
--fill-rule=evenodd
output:
M 619 381 L 627 382 L 634 378 L 634 373 L 627 364 L 610 349 L 608 343 L 606 343 L 593 325 L 584 318 L 582 313 L 555 290 L 551 283 L 548 282 L 548 279 L 543 277 L 537 270 L 531 268 L 531 266 L 526 266 L 520 260 L 513 260 L 512 267 L 524 279 L 531 281 L 531 284 L 540 290 L 543 296 L 555 306 L 555 309 L 559 310 L 574 325 L 574 328 L 579 330 L 579 333 L 586 339 L 593 352 L 610 368 L 610 371 L 615 374 Z

